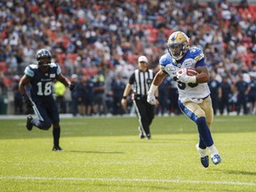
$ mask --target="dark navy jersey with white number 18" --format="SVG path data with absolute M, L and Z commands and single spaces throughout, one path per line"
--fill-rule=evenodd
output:
M 25 68 L 25 75 L 31 78 L 30 94 L 32 100 L 52 99 L 52 83 L 60 73 L 60 66 L 56 63 L 50 64 L 47 73 L 43 73 L 36 64 L 31 64 Z

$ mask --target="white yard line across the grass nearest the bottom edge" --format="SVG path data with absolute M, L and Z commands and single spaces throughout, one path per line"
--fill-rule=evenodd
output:
M 46 178 L 46 177 L 22 177 L 0 176 L 0 180 L 88 180 L 88 181 L 111 181 L 111 182 L 163 182 L 163 183 L 188 183 L 188 184 L 216 184 L 235 186 L 256 186 L 252 182 L 218 181 L 218 180 L 150 180 L 150 179 L 118 179 L 118 178 Z

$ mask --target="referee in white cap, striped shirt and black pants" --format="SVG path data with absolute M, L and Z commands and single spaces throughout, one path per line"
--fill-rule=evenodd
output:
M 151 139 L 149 126 L 155 116 L 155 107 L 147 102 L 147 92 L 154 78 L 152 69 L 148 69 L 148 59 L 140 56 L 138 59 L 139 68 L 130 76 L 128 84 L 124 89 L 123 99 L 121 100 L 123 108 L 126 108 L 126 98 L 132 89 L 132 100 L 139 118 L 140 139 L 147 137 Z M 156 92 L 158 94 L 158 92 Z M 156 95 L 157 98 L 158 95 Z

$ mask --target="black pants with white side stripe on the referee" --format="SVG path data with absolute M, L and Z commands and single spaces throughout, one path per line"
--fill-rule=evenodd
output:
M 133 100 L 137 116 L 139 118 L 140 129 L 145 136 L 150 137 L 149 126 L 155 116 L 155 106 L 147 102 L 147 97 L 140 97 Z

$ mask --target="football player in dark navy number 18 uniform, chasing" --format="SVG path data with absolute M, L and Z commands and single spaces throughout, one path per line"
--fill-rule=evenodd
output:
M 20 93 L 28 109 L 34 110 L 37 119 L 31 115 L 27 117 L 27 129 L 31 131 L 33 126 L 41 130 L 49 130 L 51 126 L 53 135 L 53 151 L 62 151 L 60 148 L 60 114 L 57 103 L 52 95 L 52 83 L 55 80 L 69 87 L 70 91 L 76 89 L 65 76 L 61 74 L 60 66 L 52 63 L 52 54 L 46 49 L 36 52 L 37 64 L 31 64 L 25 68 L 19 84 Z M 30 84 L 30 93 L 26 92 L 26 85 Z M 30 97 L 28 97 L 30 95 Z

